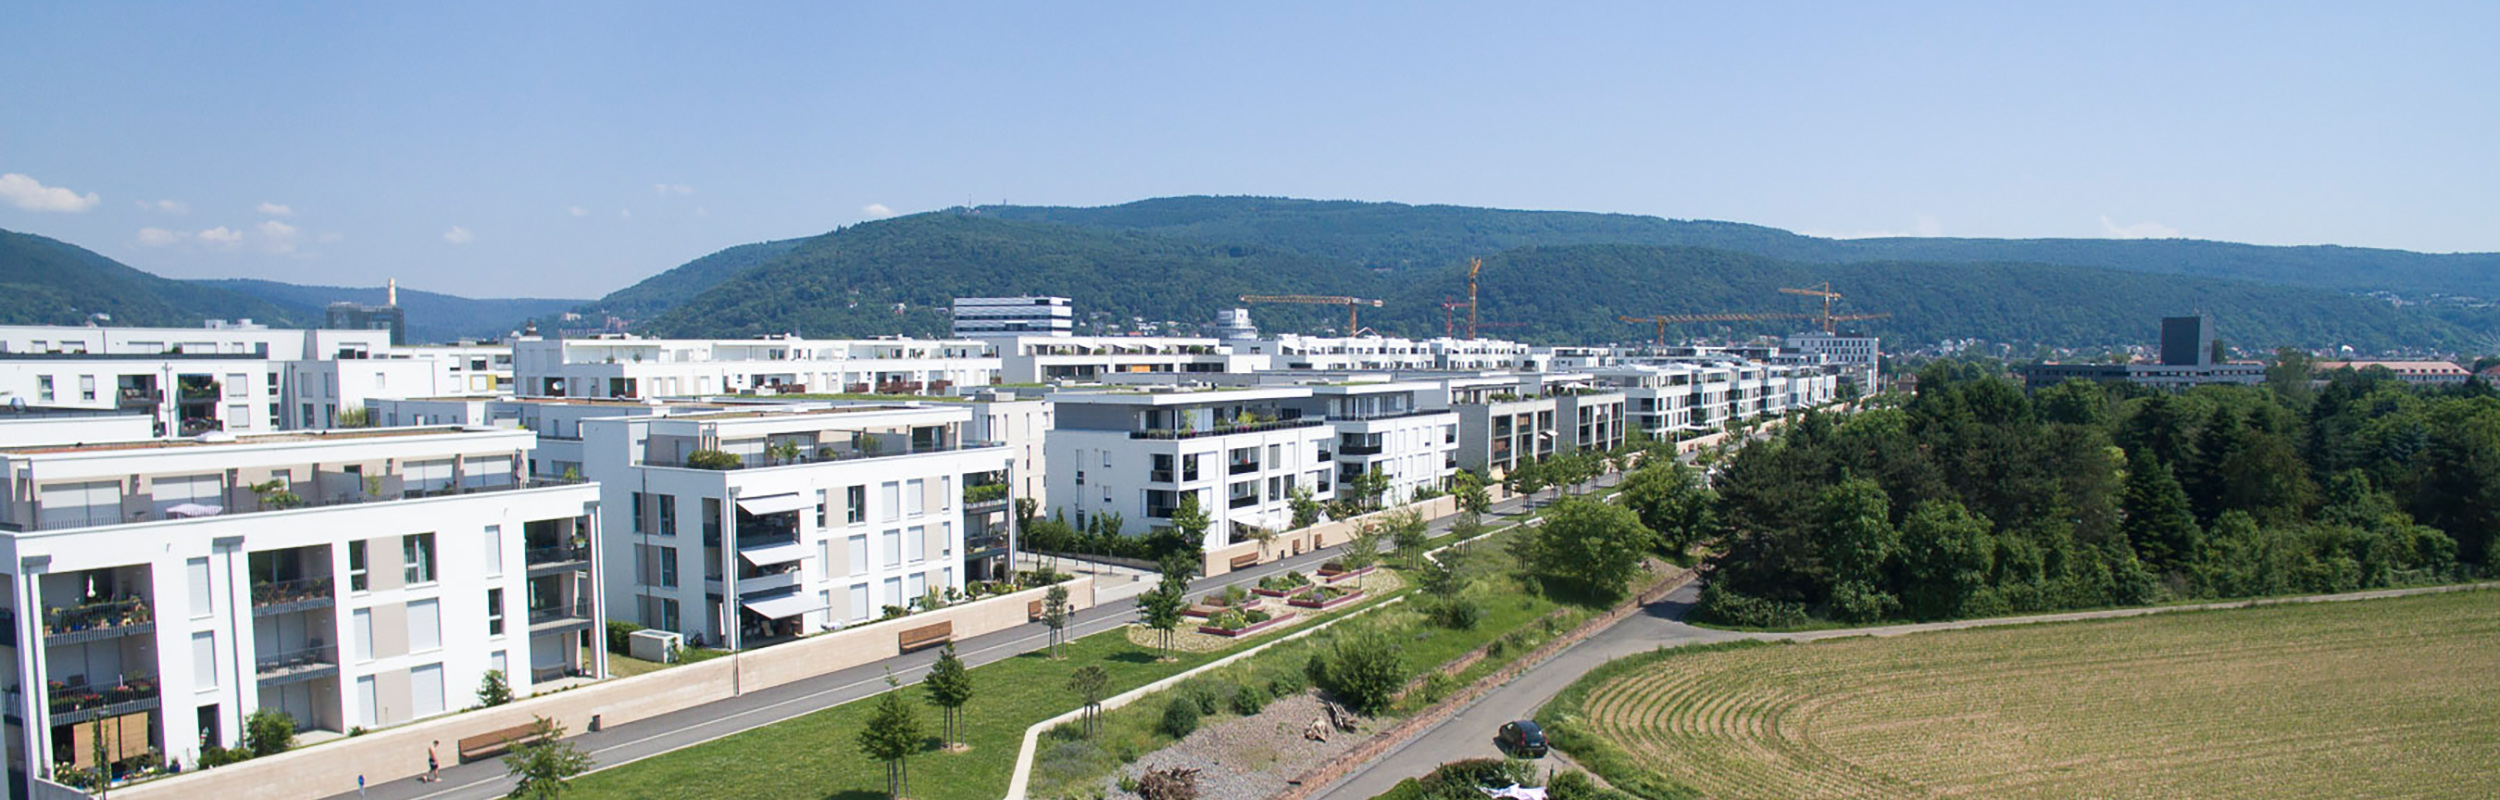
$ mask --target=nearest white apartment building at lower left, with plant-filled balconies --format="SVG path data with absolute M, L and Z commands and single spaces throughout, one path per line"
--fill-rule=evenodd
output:
M 255 710 L 308 738 L 602 675 L 598 488 L 528 432 L 368 428 L 0 450 L 10 770 L 198 765 Z M 102 720 L 105 725 L 95 725 Z

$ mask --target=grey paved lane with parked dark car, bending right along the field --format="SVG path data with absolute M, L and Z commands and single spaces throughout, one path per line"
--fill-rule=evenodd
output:
M 2158 608 L 2112 608 L 2112 610 L 2082 610 L 2082 612 L 2058 612 L 2058 615 L 2028 615 L 2028 618 L 1988 618 L 1988 620 L 1952 620 L 1952 622 L 1918 622 L 1918 625 L 1880 625 L 1880 628 L 1840 628 L 1840 630 L 1805 630 L 1805 632 L 1735 632 L 1715 630 L 1680 622 L 1692 602 L 1700 600 L 1700 585 L 1688 585 L 1675 590 L 1665 600 L 1650 602 L 1642 612 L 1615 622 L 1580 645 L 1572 645 L 1542 665 L 1520 672 L 1520 678 L 1508 685 L 1485 692 L 1475 705 L 1450 715 L 1440 725 L 1425 728 L 1412 740 L 1392 748 L 1380 760 L 1355 770 L 1345 780 L 1312 795 L 1315 800 L 1370 800 L 1388 792 L 1398 780 L 1420 778 L 1432 772 L 1442 762 L 1460 758 L 1500 758 L 1502 752 L 1492 748 L 1492 730 L 1510 720 L 1535 718 L 1538 708 L 1562 692 L 1562 688 L 1588 675 L 1598 665 L 1648 652 L 1658 648 L 1680 645 L 1705 645 L 1705 642 L 1730 642 L 1730 640 L 1828 640 L 1850 635 L 1908 635 L 1928 630 L 1962 630 L 1962 628 L 1995 628 L 1995 625 L 2032 625 L 2032 622 L 2072 622 L 2072 620 L 2110 620 L 2110 618 L 2140 618 L 2180 610 L 2220 610 L 2220 608 L 2248 608 L 2248 605 L 2280 605 L 2280 602 L 2332 602 L 2332 600 L 2378 600 L 2378 598 L 2402 598 L 2402 595 L 2430 595 L 2430 592 L 2455 592 L 2500 588 L 2500 582 L 2480 585 L 2438 585 L 2438 588 L 2412 588 L 2412 590 L 2372 590 L 2350 595 L 2302 595 L 2302 598 L 2268 598 L 2268 600 L 2232 600 L 2232 602 L 2202 602 L 2202 605 L 2158 605 Z

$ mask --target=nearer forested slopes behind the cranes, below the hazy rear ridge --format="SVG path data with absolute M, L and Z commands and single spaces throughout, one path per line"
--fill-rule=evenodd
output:
M 1365 270 L 1260 242 L 930 212 L 802 240 L 638 328 L 662 335 L 945 335 L 950 298 L 1018 292 L 1072 298 L 1080 315 L 1205 322 L 1238 305 L 1238 295 L 1298 292 L 1385 298 L 1385 308 L 1365 310 L 1365 328 L 1428 338 L 1442 332 L 1440 302 L 1465 292 L 1462 270 Z M 1802 312 L 1808 302 L 1778 295 L 1778 288 L 1818 280 L 1848 288 L 1850 310 L 1892 312 L 1862 330 L 1895 342 L 2148 342 L 2160 315 L 2192 310 L 2212 312 L 2222 338 L 2242 348 L 2480 348 L 2488 338 L 2335 290 L 2068 265 L 1808 265 L 1662 245 L 1495 252 L 1482 272 L 1482 318 L 1518 322 L 1488 330 L 1515 340 L 1632 342 L 1645 340 L 1650 328 L 1625 325 L 1618 315 Z M 1342 325 L 1342 310 L 1310 305 L 1260 305 L 1255 318 L 1262 330 Z M 1755 322 L 1680 328 L 1675 335 L 1798 328 Z

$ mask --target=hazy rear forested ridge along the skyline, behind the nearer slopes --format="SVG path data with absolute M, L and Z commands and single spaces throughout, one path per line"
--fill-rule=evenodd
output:
M 1642 215 L 1290 198 L 1158 198 L 1105 208 L 990 205 L 980 215 L 1265 245 L 1370 268 L 1445 268 L 1538 245 L 1692 245 L 1802 262 L 2052 262 L 2335 290 L 2500 298 L 2500 252 L 2265 248 L 2208 240 L 1830 240 L 1778 228 Z

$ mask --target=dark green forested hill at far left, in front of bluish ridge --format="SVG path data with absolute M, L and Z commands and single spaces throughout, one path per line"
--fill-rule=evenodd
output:
M 108 325 L 188 328 L 210 318 L 302 322 L 260 298 L 158 278 L 88 248 L 0 230 L 0 325 L 85 325 L 98 312 L 110 315 Z

